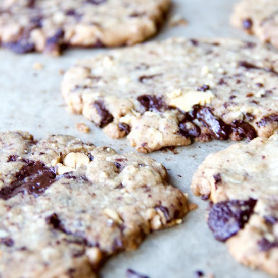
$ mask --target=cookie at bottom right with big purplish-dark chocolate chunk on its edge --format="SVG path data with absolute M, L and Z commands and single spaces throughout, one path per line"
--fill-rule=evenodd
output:
M 278 277 L 278 134 L 209 155 L 192 179 L 208 225 L 231 255 Z

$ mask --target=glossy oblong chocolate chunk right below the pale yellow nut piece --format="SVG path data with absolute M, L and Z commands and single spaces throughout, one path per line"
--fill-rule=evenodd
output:
M 229 138 L 230 128 L 221 119 L 216 119 L 211 110 L 207 107 L 202 107 L 197 112 L 198 120 L 202 121 L 206 127 L 210 129 L 214 137 L 220 140 Z

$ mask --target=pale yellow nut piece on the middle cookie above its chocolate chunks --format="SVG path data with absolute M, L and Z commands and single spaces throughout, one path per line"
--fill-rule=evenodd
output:
M 214 95 L 210 91 L 189 91 L 178 97 L 170 98 L 170 105 L 181 109 L 184 112 L 192 110 L 196 104 L 205 105 L 212 101 Z

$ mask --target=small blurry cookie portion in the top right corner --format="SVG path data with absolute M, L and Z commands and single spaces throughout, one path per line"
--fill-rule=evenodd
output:
M 278 48 L 277 0 L 241 0 L 235 6 L 231 23 Z

